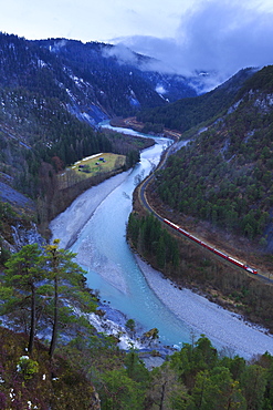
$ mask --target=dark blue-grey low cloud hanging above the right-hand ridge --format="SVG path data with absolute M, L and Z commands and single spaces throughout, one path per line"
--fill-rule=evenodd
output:
M 182 16 L 174 39 L 137 35 L 119 42 L 160 60 L 164 71 L 214 73 L 213 86 L 240 69 L 273 63 L 272 21 L 273 12 L 251 3 L 212 0 Z

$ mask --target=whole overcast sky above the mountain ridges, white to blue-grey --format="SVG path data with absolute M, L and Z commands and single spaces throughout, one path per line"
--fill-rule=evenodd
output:
M 0 31 L 123 42 L 182 74 L 273 64 L 272 0 L 8 0 Z

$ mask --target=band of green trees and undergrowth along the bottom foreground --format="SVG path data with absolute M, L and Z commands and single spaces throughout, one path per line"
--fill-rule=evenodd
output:
M 83 410 L 273 409 L 273 357 L 267 352 L 246 362 L 228 351 L 218 352 L 206 336 L 192 337 L 191 344 L 148 371 L 134 349 L 125 353 L 103 336 L 101 341 L 77 337 L 50 367 L 42 346 L 36 344 L 35 360 L 20 357 L 22 337 L 1 335 L 0 358 L 9 351 L 2 366 L 2 409 L 28 408 L 30 402 L 38 410 L 49 406 L 56 410 L 78 406 Z

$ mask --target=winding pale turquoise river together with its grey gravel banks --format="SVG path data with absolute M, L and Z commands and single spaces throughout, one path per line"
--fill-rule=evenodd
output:
M 166 147 L 166 139 L 155 141 L 132 171 L 90 188 L 60 214 L 50 226 L 53 238 L 61 238 L 62 247 L 73 244 L 70 249 L 87 271 L 87 285 L 98 289 L 105 305 L 134 319 L 143 332 L 156 327 L 162 345 L 179 347 L 192 334 L 206 334 L 216 347 L 229 346 L 245 357 L 273 353 L 273 339 L 237 315 L 175 288 L 146 264 L 139 268 L 126 242 L 126 223 L 137 182 L 158 164 Z M 248 339 L 252 342 L 245 344 Z

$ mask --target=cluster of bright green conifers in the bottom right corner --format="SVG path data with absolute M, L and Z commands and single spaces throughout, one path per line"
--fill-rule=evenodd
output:
M 246 363 L 238 356 L 219 355 L 202 336 L 153 371 L 160 378 L 157 404 L 192 410 L 272 409 L 272 370 L 273 358 L 266 352 Z

